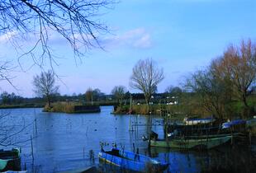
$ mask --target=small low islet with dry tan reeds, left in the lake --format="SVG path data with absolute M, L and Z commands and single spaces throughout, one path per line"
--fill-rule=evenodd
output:
M 50 107 L 45 106 L 45 112 L 64 112 L 68 114 L 73 113 L 94 113 L 100 112 L 99 105 L 81 105 L 76 102 L 55 102 Z

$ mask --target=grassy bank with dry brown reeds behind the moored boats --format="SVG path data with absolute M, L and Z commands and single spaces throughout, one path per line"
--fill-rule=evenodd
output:
M 247 117 L 252 118 L 256 110 L 254 101 L 249 101 L 250 112 Z M 239 101 L 233 101 L 230 105 L 225 107 L 223 118 L 237 119 L 243 118 L 244 105 Z M 130 112 L 130 105 L 115 106 L 114 114 L 134 114 L 134 115 L 148 115 L 151 112 L 152 115 L 188 115 L 189 117 L 208 117 L 210 115 L 216 115 L 214 112 L 207 110 L 196 99 L 190 99 L 183 101 L 178 105 L 166 105 L 166 104 L 153 104 L 149 107 L 145 104 L 132 105 Z M 217 115 L 216 115 L 217 117 Z

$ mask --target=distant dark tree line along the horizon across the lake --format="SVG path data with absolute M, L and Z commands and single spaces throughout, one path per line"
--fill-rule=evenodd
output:
M 90 88 L 91 90 L 92 88 Z M 94 103 L 101 103 L 104 105 L 126 105 L 130 103 L 130 96 L 132 98 L 133 103 L 140 103 L 145 104 L 145 96 L 143 93 L 130 93 L 130 91 L 124 92 L 122 97 L 115 96 L 112 92 L 111 94 L 105 94 L 102 91 L 100 91 L 98 88 L 92 89 L 93 96 L 92 100 L 91 97 L 88 96 L 88 91 L 85 93 L 73 93 L 72 95 L 60 95 L 59 93 L 55 93 L 51 96 L 51 102 L 56 101 L 72 101 L 72 102 L 79 102 L 82 104 L 88 104 L 91 105 L 92 101 Z M 97 91 L 97 92 L 96 92 Z M 172 93 L 164 92 L 164 93 L 154 93 L 154 97 L 151 99 L 154 103 L 159 102 L 166 102 L 168 101 L 171 96 L 175 96 Z M 167 98 L 168 97 L 168 98 Z M 160 101 L 162 100 L 162 101 Z M 0 104 L 1 105 L 21 105 L 21 104 L 40 104 L 45 105 L 45 97 L 31 97 L 26 98 L 22 96 L 17 96 L 15 93 L 8 93 L 7 91 L 3 91 L 0 95 Z M 47 102 L 47 101 L 46 101 Z

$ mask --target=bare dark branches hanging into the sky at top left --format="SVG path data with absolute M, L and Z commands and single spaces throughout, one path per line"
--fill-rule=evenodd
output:
M 21 49 L 21 57 L 31 55 L 40 66 L 46 58 L 55 63 L 50 49 L 51 35 L 68 41 L 76 56 L 98 44 L 98 36 L 108 31 L 107 26 L 97 19 L 101 10 L 111 9 L 115 0 L 0 0 L 0 35 L 12 39 L 16 49 L 26 41 L 30 49 Z M 106 10 L 105 10 L 106 12 Z M 15 38 L 15 39 L 13 39 Z M 36 55 L 40 52 L 40 56 Z M 36 54 L 35 54 L 36 53 Z

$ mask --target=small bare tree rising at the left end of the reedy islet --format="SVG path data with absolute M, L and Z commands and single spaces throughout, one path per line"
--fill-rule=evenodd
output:
M 51 70 L 41 72 L 33 79 L 34 92 L 37 96 L 45 97 L 50 107 L 50 100 L 59 91 L 59 86 L 55 86 L 55 74 Z

